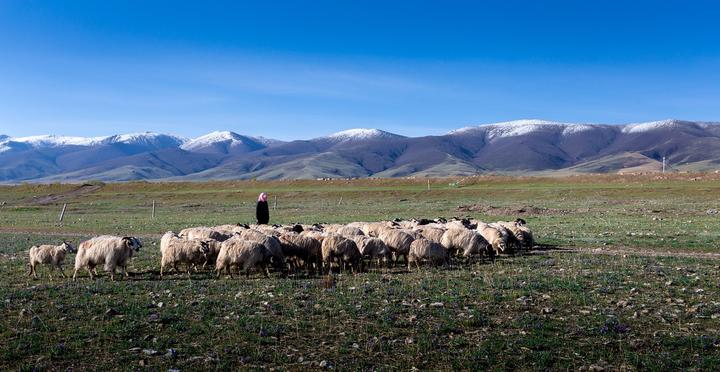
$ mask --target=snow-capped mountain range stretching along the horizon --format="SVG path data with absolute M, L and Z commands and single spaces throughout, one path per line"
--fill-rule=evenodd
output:
M 720 169 L 720 123 L 517 120 L 405 137 L 350 129 L 279 141 L 212 132 L 108 137 L 0 135 L 0 182 L 300 179 Z

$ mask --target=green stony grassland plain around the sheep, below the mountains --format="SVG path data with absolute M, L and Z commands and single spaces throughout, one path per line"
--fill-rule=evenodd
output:
M 425 179 L 79 186 L 0 187 L 0 369 L 720 363 L 714 174 L 433 179 L 429 191 Z M 277 196 L 277 223 L 522 217 L 542 249 L 495 264 L 340 274 L 332 283 L 210 273 L 158 280 L 154 244 L 163 232 L 252 222 L 260 191 L 271 205 Z M 25 275 L 32 244 L 100 233 L 143 238 L 128 280 L 51 282 L 44 268 L 39 280 Z

